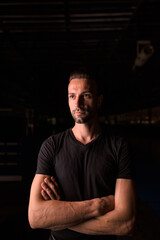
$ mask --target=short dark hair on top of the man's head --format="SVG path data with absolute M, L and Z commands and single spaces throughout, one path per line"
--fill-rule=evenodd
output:
M 78 70 L 74 70 L 73 72 L 70 73 L 69 76 L 69 83 L 71 82 L 72 79 L 75 78 L 86 78 L 88 80 L 94 81 L 97 85 L 97 91 L 98 91 L 98 95 L 101 95 L 102 92 L 102 85 L 101 85 L 101 81 L 98 78 L 97 74 L 93 73 L 90 70 L 86 70 L 86 69 L 78 69 Z

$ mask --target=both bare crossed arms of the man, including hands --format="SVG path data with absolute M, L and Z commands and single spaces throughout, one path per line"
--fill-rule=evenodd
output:
M 57 183 L 46 175 L 35 175 L 28 209 L 32 228 L 71 230 L 93 235 L 129 235 L 136 217 L 132 180 L 117 179 L 114 196 L 86 201 L 60 200 Z

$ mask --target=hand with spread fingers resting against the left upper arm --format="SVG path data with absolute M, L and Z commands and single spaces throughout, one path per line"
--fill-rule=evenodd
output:
M 46 177 L 44 181 L 41 183 L 41 195 L 44 200 L 60 200 L 61 194 L 59 190 L 59 186 L 55 181 L 54 177 Z

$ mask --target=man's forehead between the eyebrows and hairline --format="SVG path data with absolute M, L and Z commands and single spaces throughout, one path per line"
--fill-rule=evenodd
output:
M 96 92 L 96 83 L 87 78 L 74 78 L 68 85 L 68 92 L 72 91 L 91 91 Z

